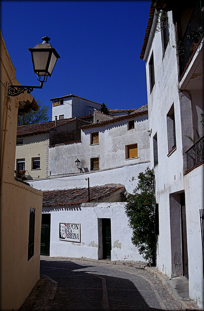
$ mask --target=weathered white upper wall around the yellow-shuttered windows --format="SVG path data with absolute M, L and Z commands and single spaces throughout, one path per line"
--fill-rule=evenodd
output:
M 78 158 L 84 172 L 90 172 L 90 158 L 99 157 L 100 170 L 149 161 L 148 116 L 135 118 L 135 128 L 127 130 L 132 119 L 110 123 L 81 131 L 81 142 L 50 147 L 49 172 L 51 175 L 77 173 Z M 134 118 L 133 118 L 134 120 Z M 99 144 L 91 145 L 90 133 L 99 132 Z M 138 157 L 125 159 L 125 145 L 137 143 Z

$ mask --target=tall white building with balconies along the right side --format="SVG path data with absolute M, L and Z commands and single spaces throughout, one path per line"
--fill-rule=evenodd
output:
M 202 8 L 200 0 L 152 1 L 140 54 L 146 61 L 151 166 L 159 208 L 156 264 L 169 277 L 186 276 L 189 297 L 200 307 L 204 307 Z

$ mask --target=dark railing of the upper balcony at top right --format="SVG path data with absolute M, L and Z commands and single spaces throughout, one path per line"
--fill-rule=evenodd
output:
M 182 74 L 204 35 L 204 0 L 197 0 L 181 41 L 177 42 Z

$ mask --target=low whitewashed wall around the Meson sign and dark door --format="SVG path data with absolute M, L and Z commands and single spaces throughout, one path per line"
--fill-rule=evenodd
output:
M 131 242 L 132 229 L 128 226 L 125 203 L 85 203 L 81 207 L 43 208 L 51 213 L 51 257 L 99 259 L 98 219 L 111 219 L 111 260 L 144 261 Z M 59 223 L 81 225 L 81 242 L 59 240 Z

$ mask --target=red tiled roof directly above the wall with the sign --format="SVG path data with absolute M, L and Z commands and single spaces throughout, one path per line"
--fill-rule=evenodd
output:
M 91 187 L 90 201 L 102 199 L 123 186 Z M 75 206 L 88 202 L 88 188 L 43 191 L 43 207 Z

